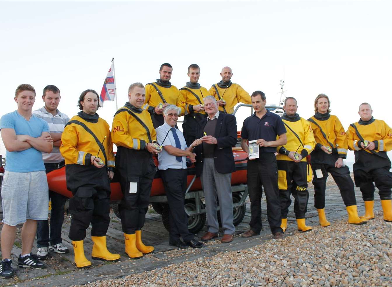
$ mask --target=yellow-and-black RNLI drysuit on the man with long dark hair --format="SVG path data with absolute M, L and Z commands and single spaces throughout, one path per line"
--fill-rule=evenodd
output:
M 83 240 L 90 223 L 92 236 L 105 236 L 110 222 L 107 171 L 114 171 L 115 166 L 109 125 L 98 114 L 79 112 L 64 128 L 60 152 L 65 159 L 67 188 L 73 194 L 69 238 Z M 91 164 L 91 156 L 97 155 L 103 168 Z

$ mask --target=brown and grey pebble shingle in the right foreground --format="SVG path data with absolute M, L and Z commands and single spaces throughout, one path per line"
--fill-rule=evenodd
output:
M 284 239 L 84 286 L 391 286 L 392 223 L 346 218 Z M 76 287 L 76 286 L 73 286 Z

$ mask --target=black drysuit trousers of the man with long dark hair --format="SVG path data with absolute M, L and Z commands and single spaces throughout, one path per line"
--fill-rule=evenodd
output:
M 110 181 L 106 168 L 67 164 L 65 172 L 67 188 L 73 194 L 69 199 L 72 214 L 69 239 L 83 240 L 90 223 L 91 236 L 105 236 L 110 222 Z

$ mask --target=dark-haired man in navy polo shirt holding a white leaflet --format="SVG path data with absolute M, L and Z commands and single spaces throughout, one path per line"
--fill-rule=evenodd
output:
M 281 210 L 278 188 L 278 164 L 276 147 L 287 143 L 286 128 L 277 114 L 265 109 L 265 94 L 253 92 L 250 97 L 254 114 L 247 117 L 241 130 L 241 147 L 249 154 L 247 141 L 256 141 L 259 145 L 259 157 L 249 159 L 247 164 L 248 191 L 250 199 L 250 229 L 242 237 L 251 237 L 261 231 L 261 196 L 264 188 L 267 199 L 267 218 L 274 238 L 283 238 Z M 278 139 L 277 139 L 278 138 Z

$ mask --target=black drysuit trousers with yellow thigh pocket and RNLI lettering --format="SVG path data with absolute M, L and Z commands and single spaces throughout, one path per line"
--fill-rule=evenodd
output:
M 277 161 L 278 186 L 282 218 L 287 218 L 291 204 L 290 193 L 294 197 L 294 213 L 297 219 L 305 218 L 309 191 L 306 161 Z

